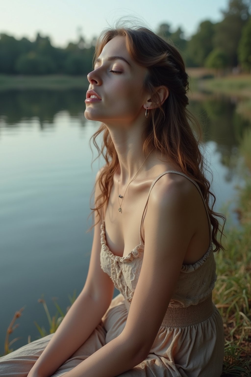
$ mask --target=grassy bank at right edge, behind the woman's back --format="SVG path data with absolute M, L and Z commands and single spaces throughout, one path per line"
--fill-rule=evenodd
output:
M 246 129 L 240 152 L 245 160 L 244 188 L 239 188 L 236 212 L 240 227 L 227 225 L 224 253 L 216 255 L 218 279 L 213 300 L 225 329 L 222 376 L 251 376 L 251 129 Z

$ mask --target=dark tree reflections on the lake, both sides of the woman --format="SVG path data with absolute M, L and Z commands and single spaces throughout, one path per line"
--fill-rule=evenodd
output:
M 0 92 L 0 121 L 5 127 L 18 127 L 22 120 L 39 120 L 41 130 L 45 123 L 55 127 L 55 115 L 67 110 L 71 117 L 85 125 L 85 93 L 88 88 L 70 90 L 6 90 Z M 221 163 L 232 171 L 238 160 L 238 145 L 243 131 L 250 122 L 236 112 L 236 98 L 223 95 L 204 95 L 203 100 L 191 100 L 190 111 L 202 125 L 205 141 L 214 141 L 221 153 Z M 4 120 L 4 122 L 3 122 Z

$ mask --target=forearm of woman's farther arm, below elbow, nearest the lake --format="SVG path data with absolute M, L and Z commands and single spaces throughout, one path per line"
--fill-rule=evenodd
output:
M 109 303 L 81 292 L 44 349 L 31 372 L 50 377 L 90 336 Z

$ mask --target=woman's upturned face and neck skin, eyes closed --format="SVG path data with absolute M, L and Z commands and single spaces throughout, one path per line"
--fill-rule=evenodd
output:
M 112 56 L 122 56 L 130 66 L 123 60 L 106 60 Z M 89 89 L 93 89 L 102 101 L 87 103 L 84 115 L 89 120 L 105 123 L 108 128 L 119 157 L 120 184 L 124 186 L 145 159 L 141 134 L 145 127 L 146 107 L 150 111 L 153 108 L 151 96 L 143 91 L 147 70 L 131 59 L 126 50 L 125 37 L 117 36 L 110 40 L 98 58 L 101 62 L 95 64 L 87 78 Z M 169 95 L 168 89 L 162 86 L 156 90 L 163 103 Z M 148 169 L 151 158 L 144 164 L 143 171 Z

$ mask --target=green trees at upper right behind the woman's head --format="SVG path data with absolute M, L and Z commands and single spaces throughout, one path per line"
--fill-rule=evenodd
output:
M 178 28 L 170 32 L 169 24 L 162 24 L 158 34 L 170 38 L 180 49 L 186 66 L 215 69 L 239 67 L 251 69 L 251 17 L 250 0 L 230 0 L 228 9 L 222 10 L 218 23 L 202 21 L 190 40 Z

